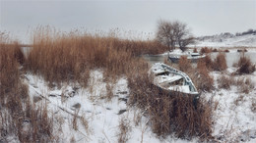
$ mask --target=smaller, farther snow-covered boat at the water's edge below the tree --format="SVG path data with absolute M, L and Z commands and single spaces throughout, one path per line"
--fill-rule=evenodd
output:
M 206 55 L 201 55 L 199 53 L 194 52 L 184 52 L 184 53 L 168 53 L 168 59 L 173 63 L 178 63 L 181 56 L 187 57 L 188 60 L 191 62 L 197 62 L 199 59 L 203 59 L 206 57 Z

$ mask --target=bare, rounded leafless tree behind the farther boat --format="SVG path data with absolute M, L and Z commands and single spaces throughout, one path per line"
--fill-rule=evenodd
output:
M 182 51 L 186 50 L 186 46 L 194 42 L 194 37 L 191 35 L 187 24 L 181 22 L 166 22 L 160 21 L 158 24 L 157 39 L 160 43 L 168 46 L 173 50 L 178 46 Z

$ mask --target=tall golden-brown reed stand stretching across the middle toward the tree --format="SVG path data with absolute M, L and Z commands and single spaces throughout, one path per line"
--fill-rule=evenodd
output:
M 47 81 L 79 81 L 87 85 L 89 70 L 104 69 L 107 75 L 126 74 L 138 61 L 136 56 L 160 53 L 156 41 L 131 41 L 115 36 L 80 32 L 62 33 L 52 27 L 38 27 L 27 69 Z

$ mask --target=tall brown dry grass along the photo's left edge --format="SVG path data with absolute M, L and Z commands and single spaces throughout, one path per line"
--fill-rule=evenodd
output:
M 4 35 L 4 37 L 8 37 Z M 0 142 L 52 142 L 52 119 L 46 108 L 32 106 L 28 85 L 20 76 L 25 64 L 17 42 L 0 37 Z

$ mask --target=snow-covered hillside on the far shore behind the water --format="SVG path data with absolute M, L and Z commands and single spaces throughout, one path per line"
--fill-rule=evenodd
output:
M 197 38 L 195 44 L 190 47 L 256 47 L 256 34 L 214 35 Z

